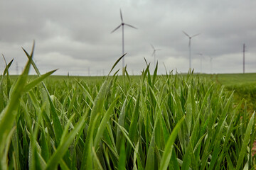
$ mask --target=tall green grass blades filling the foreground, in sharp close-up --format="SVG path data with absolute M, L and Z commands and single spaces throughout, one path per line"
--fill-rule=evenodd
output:
M 157 67 L 151 75 L 149 64 L 136 79 L 127 72 L 95 83 L 53 79 L 54 71 L 40 74 L 33 50 L 26 55 L 16 81 L 11 62 L 1 76 L 1 169 L 255 166 L 255 114 L 240 107 L 243 101 L 234 106 L 233 94 L 211 81 L 192 73 L 157 76 Z

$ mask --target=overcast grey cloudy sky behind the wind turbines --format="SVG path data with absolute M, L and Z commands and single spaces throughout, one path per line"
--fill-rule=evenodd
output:
M 9 72 L 21 74 L 31 52 L 41 73 L 58 69 L 55 75 L 101 76 L 108 74 L 122 56 L 124 26 L 125 64 L 129 74 L 140 74 L 145 60 L 154 70 L 153 49 L 159 74 L 189 69 L 194 72 L 242 73 L 245 43 L 245 72 L 256 72 L 255 0 L 1 0 L 0 52 L 6 62 L 14 59 Z M 198 55 L 198 54 L 202 55 Z M 210 62 L 210 57 L 212 58 Z M 145 60 L 144 60 L 145 59 Z M 5 63 L 0 58 L 0 74 Z M 122 62 L 117 69 L 122 68 Z M 33 68 L 30 74 L 35 74 Z M 119 72 L 122 74 L 122 72 Z

